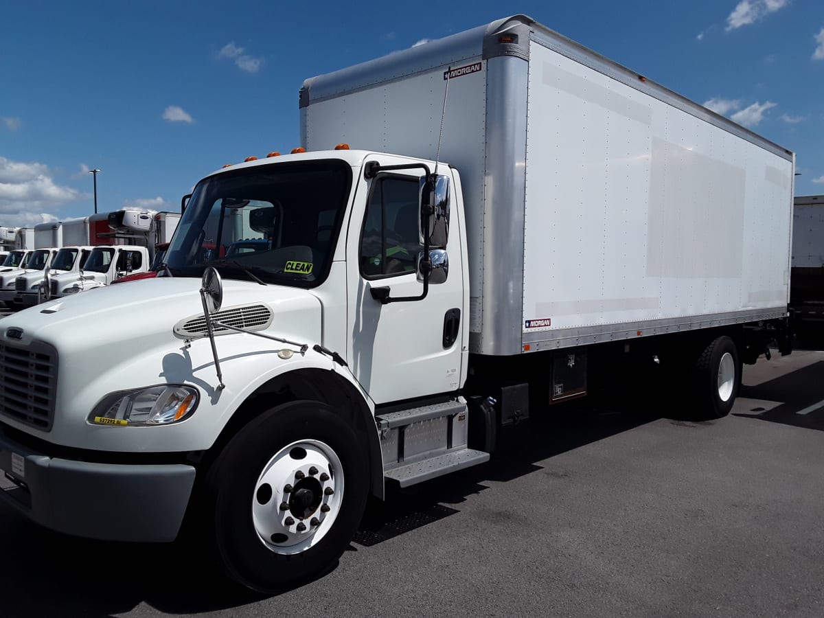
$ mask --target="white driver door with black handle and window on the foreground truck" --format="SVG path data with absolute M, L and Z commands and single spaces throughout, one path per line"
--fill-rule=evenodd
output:
M 386 157 L 388 158 L 388 157 Z M 404 161 L 405 162 L 405 161 Z M 391 165 L 396 161 L 382 161 Z M 444 283 L 429 285 L 423 300 L 382 304 L 372 288 L 391 297 L 418 297 L 424 285 L 416 265 L 421 171 L 378 173 L 358 187 L 347 240 L 349 359 L 376 404 L 455 391 L 460 386 L 464 343 L 461 229 L 453 218 Z M 451 189 L 454 191 L 454 189 Z M 452 203 L 455 203 L 452 194 Z M 447 327 L 456 338 L 444 338 Z M 459 327 L 460 326 L 460 327 Z

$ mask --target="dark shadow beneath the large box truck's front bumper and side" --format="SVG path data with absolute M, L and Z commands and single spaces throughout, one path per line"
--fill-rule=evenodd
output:
M 661 418 L 651 410 L 586 401 L 564 405 L 504 431 L 488 463 L 404 490 L 369 504 L 349 550 L 368 551 L 393 536 L 458 513 L 468 496 L 543 469 L 540 462 Z M 116 526 L 117 522 L 110 522 Z M 180 544 L 88 541 L 44 530 L 0 511 L 2 616 L 112 616 L 146 604 L 169 614 L 225 611 L 263 597 L 227 583 Z M 334 569 L 335 567 L 333 567 Z M 320 578 L 323 575 L 321 574 Z M 44 591 L 48 591 L 44 593 Z

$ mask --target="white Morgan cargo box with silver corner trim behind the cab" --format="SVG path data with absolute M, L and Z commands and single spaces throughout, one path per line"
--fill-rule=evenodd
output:
M 471 351 L 786 315 L 793 153 L 526 16 L 308 79 L 302 145 L 433 159 L 447 83 Z

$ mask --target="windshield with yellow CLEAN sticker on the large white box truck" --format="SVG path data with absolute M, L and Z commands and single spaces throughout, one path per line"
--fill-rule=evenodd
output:
M 349 199 L 345 162 L 281 163 L 197 185 L 166 254 L 175 276 L 214 265 L 224 278 L 311 288 L 329 272 Z M 248 272 L 244 272 L 244 269 Z

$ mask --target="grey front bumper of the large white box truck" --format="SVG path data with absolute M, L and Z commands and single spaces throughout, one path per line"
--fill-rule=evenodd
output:
M 174 541 L 194 485 L 185 464 L 111 464 L 50 457 L 0 428 L 6 503 L 41 526 L 104 541 Z

